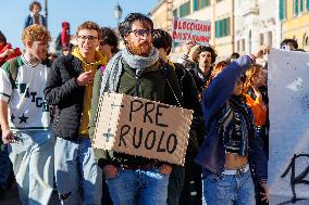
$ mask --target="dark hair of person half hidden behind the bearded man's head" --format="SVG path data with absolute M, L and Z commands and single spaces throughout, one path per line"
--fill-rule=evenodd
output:
M 162 29 L 153 29 L 152 31 L 152 44 L 156 49 L 163 48 L 169 55 L 171 53 L 173 39 L 171 35 Z

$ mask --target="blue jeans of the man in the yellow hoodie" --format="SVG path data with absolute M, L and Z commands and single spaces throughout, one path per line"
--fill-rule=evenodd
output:
M 90 139 L 78 138 L 74 142 L 57 138 L 54 172 L 61 204 L 101 203 L 102 170 L 97 166 Z

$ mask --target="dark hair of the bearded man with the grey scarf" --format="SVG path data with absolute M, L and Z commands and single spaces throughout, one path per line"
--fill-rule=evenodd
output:
M 153 29 L 153 22 L 147 15 L 141 13 L 131 13 L 119 25 L 119 33 L 123 39 L 132 30 L 132 24 L 136 21 L 141 22 L 145 27 L 148 27 L 151 30 Z

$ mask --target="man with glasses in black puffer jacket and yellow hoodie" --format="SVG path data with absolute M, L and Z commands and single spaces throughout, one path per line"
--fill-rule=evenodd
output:
M 106 55 L 97 50 L 100 38 L 96 23 L 83 23 L 76 31 L 77 47 L 54 61 L 45 88 L 48 104 L 57 106 L 54 174 L 62 204 L 101 202 L 102 171 L 87 129 L 94 76 L 107 63 Z

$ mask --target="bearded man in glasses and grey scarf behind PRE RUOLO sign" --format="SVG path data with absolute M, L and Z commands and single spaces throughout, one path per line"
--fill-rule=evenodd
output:
M 152 21 L 131 13 L 120 24 L 125 48 L 108 63 L 94 82 L 89 134 L 94 136 L 99 99 L 103 92 L 125 93 L 165 104 L 182 106 L 183 97 L 176 74 L 163 66 L 152 47 Z M 166 68 L 166 69 L 165 69 Z M 166 82 L 169 80 L 170 85 Z M 114 205 L 166 204 L 172 165 L 118 152 L 98 152 Z

